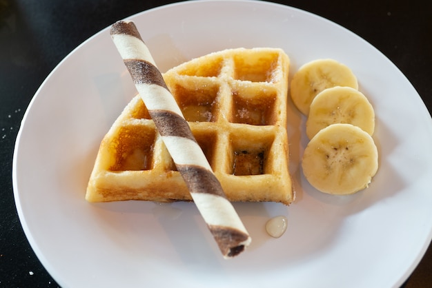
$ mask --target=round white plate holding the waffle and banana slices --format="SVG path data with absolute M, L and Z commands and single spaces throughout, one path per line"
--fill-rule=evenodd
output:
M 432 121 L 384 55 L 301 10 L 260 1 L 203 1 L 139 13 L 161 70 L 224 48 L 283 48 L 291 71 L 318 58 L 345 63 L 375 107 L 380 170 L 353 196 L 316 192 L 299 169 L 305 119 L 290 105 L 297 201 L 235 204 L 253 244 L 223 260 L 193 203 L 89 204 L 84 193 L 102 136 L 135 94 L 108 29 L 43 82 L 24 116 L 13 162 L 26 236 L 63 287 L 398 287 L 432 237 Z M 292 73 L 291 73 L 292 75 Z M 288 216 L 282 238 L 266 235 Z

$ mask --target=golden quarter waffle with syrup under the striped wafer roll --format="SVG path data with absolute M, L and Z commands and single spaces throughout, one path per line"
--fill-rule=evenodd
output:
M 286 133 L 288 67 L 282 50 L 238 48 L 163 74 L 230 201 L 293 201 Z M 86 199 L 192 200 L 139 95 L 101 141 Z

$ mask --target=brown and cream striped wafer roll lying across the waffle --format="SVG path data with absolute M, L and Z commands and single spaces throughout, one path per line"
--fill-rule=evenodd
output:
M 251 237 L 227 200 L 135 24 L 118 21 L 112 25 L 111 37 L 219 249 L 225 258 L 236 256 L 251 243 Z

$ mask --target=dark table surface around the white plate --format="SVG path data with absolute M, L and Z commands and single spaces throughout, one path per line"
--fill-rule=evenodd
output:
M 58 287 L 23 233 L 12 191 L 14 141 L 32 96 L 59 61 L 92 34 L 173 2 L 0 0 L 0 287 Z M 369 41 L 406 75 L 431 112 L 431 1 L 275 2 L 313 12 Z M 402 287 L 432 287 L 432 247 Z

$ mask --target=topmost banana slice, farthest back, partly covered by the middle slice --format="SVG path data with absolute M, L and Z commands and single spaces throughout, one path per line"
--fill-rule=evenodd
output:
M 318 59 L 306 63 L 291 81 L 291 99 L 300 112 L 309 114 L 309 106 L 322 90 L 335 86 L 358 89 L 357 77 L 350 68 L 333 59 Z

